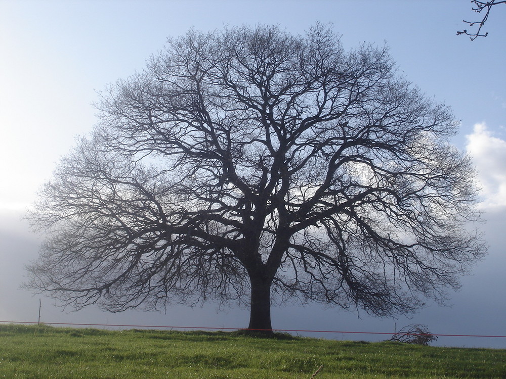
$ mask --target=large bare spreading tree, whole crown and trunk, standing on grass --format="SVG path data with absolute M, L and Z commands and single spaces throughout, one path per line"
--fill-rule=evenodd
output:
M 386 316 L 484 254 L 450 110 L 332 31 L 190 31 L 103 93 L 29 216 L 31 288 L 111 311 L 297 298 Z M 248 304 L 249 303 L 249 304 Z

